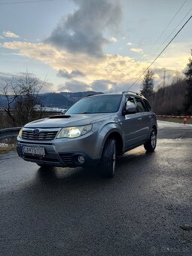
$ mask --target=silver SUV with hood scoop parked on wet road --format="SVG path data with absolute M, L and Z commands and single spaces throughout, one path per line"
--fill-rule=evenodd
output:
M 27 123 L 17 152 L 38 166 L 97 166 L 112 177 L 117 155 L 140 145 L 154 151 L 157 120 L 139 93 L 99 94 L 80 99 L 65 114 Z

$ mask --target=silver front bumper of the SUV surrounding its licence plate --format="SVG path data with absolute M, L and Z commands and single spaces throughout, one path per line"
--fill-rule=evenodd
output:
M 42 147 L 45 156 L 23 154 L 23 145 Z M 86 134 L 76 139 L 53 139 L 49 142 L 17 139 L 17 153 L 23 160 L 50 166 L 89 167 L 99 163 L 96 133 Z M 84 163 L 78 161 L 80 155 L 84 157 Z

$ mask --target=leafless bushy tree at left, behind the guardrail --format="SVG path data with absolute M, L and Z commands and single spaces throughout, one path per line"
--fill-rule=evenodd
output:
M 11 78 L 6 81 L 2 93 L 6 98 L 5 111 L 13 121 L 14 126 L 28 123 L 41 117 L 42 101 L 39 92 L 46 84 L 29 72 L 23 73 L 20 77 Z

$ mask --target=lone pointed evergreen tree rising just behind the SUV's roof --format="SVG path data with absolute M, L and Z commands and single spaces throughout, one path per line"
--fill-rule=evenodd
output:
M 151 97 L 154 92 L 154 72 L 148 71 L 145 74 L 145 77 L 142 81 L 141 93 L 146 98 Z

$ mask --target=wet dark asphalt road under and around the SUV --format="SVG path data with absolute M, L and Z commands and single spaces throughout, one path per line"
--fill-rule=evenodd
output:
M 160 122 L 158 138 L 113 179 L 0 154 L 0 255 L 191 255 L 192 126 Z

